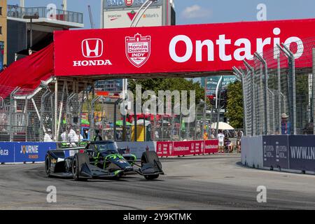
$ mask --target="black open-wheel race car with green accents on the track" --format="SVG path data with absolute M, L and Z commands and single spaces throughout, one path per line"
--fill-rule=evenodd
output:
M 66 157 L 66 151 L 78 152 Z M 154 151 L 144 152 L 141 160 L 137 160 L 135 155 L 126 154 L 125 148 L 118 148 L 115 141 L 93 141 L 86 146 L 48 151 L 45 172 L 48 177 L 73 178 L 76 181 L 119 179 L 127 174 L 140 174 L 153 180 L 164 174 Z

